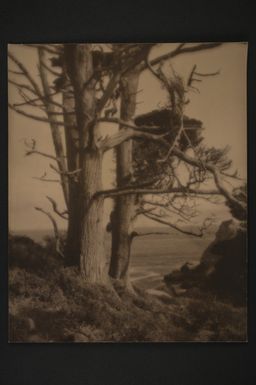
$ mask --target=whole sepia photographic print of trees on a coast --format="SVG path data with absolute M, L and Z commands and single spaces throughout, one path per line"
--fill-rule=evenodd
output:
M 247 342 L 247 50 L 8 45 L 10 343 Z

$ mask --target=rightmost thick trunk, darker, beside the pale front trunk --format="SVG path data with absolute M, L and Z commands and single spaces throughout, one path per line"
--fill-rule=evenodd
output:
M 136 109 L 136 93 L 139 72 L 130 72 L 122 79 L 121 119 L 129 122 Z M 121 127 L 122 128 L 122 127 Z M 132 140 L 121 144 L 116 149 L 117 187 L 124 187 L 132 182 Z M 116 279 L 123 279 L 129 285 L 129 263 L 131 254 L 135 197 L 126 195 L 117 197 L 111 216 L 112 251 L 109 274 Z

